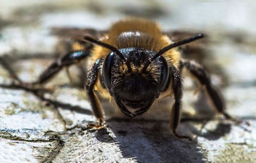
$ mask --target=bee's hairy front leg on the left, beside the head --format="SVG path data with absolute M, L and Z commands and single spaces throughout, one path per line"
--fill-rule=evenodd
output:
M 94 92 L 96 79 L 97 79 L 97 76 L 99 76 L 100 65 L 102 65 L 102 59 L 96 60 L 92 69 L 88 73 L 88 80 L 86 83 L 86 90 L 88 93 L 90 104 L 92 105 L 93 113 L 97 118 L 97 120 L 99 121 L 97 124 L 89 123 L 87 127 L 95 128 L 95 129 L 102 128 L 104 123 L 103 110 L 101 108 L 99 98 Z

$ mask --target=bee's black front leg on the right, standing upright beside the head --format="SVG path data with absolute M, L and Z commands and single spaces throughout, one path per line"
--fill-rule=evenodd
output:
M 180 139 L 192 140 L 189 136 L 179 135 L 176 133 L 176 129 L 178 128 L 180 122 L 181 115 L 181 98 L 182 98 L 182 83 L 180 78 L 179 71 L 172 65 L 169 67 L 170 77 L 172 78 L 172 88 L 174 93 L 175 102 L 173 104 L 173 108 L 170 114 L 170 129 L 172 130 L 174 136 Z

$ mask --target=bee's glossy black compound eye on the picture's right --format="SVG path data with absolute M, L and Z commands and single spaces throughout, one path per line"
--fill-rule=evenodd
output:
M 162 92 L 167 84 L 168 78 L 169 78 L 169 68 L 167 61 L 164 57 L 160 56 L 159 59 L 162 61 L 162 76 L 161 76 L 161 83 L 159 86 L 160 92 Z

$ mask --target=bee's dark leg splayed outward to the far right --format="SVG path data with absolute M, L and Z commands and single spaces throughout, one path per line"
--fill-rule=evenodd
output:
M 199 83 L 205 87 L 209 98 L 214 105 L 214 108 L 220 112 L 228 120 L 232 120 L 236 123 L 241 123 L 242 121 L 231 117 L 227 112 L 225 112 L 225 103 L 222 94 L 211 84 L 209 74 L 204 70 L 204 68 L 197 62 L 188 61 L 186 59 L 181 59 L 180 68 L 187 68 L 190 73 L 198 79 Z

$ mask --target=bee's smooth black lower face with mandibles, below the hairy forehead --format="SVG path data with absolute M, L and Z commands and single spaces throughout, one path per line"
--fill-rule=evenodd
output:
M 141 77 L 123 81 L 113 87 L 113 97 L 119 109 L 129 117 L 143 114 L 157 98 L 156 86 Z

